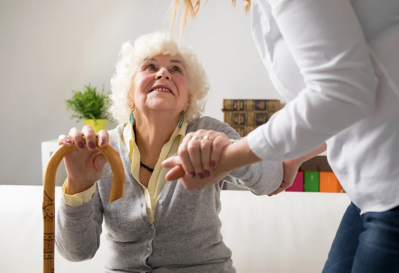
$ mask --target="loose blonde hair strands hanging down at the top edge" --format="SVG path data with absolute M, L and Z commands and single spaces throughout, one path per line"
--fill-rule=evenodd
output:
M 181 21 L 181 29 L 180 29 L 180 35 L 182 35 L 183 30 L 186 26 L 187 23 L 187 16 L 190 15 L 190 17 L 195 18 L 198 10 L 200 9 L 200 0 L 182 0 L 183 1 L 183 15 L 182 15 L 182 21 Z M 208 0 L 205 1 L 205 5 L 208 2 Z M 171 19 L 171 32 L 172 32 L 172 27 L 175 23 L 176 19 L 176 14 L 179 9 L 179 4 L 180 0 L 173 0 L 173 11 L 172 11 L 172 19 Z M 231 0 L 231 4 L 235 6 L 235 0 Z M 251 0 L 245 0 L 244 4 L 244 10 L 246 13 L 249 11 L 249 7 L 251 6 Z

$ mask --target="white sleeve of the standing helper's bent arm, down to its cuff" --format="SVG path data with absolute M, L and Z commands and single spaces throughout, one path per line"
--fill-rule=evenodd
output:
M 297 158 L 374 112 L 378 80 L 349 0 L 267 0 L 305 88 L 247 136 L 264 160 Z

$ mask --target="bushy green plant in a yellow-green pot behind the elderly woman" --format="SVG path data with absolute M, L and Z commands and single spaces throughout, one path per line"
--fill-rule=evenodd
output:
M 109 94 L 104 93 L 104 86 L 101 92 L 89 84 L 84 86 L 83 92 L 72 90 L 72 93 L 72 98 L 65 100 L 66 109 L 72 112 L 72 118 L 83 120 L 83 124 L 93 127 L 96 134 L 105 130 Z

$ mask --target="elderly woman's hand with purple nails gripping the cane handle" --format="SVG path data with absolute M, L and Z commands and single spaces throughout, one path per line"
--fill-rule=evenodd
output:
M 84 145 L 83 137 L 87 145 Z M 77 128 L 72 128 L 68 136 L 58 137 L 59 145 L 76 145 L 77 147 L 64 157 L 67 194 L 73 195 L 85 191 L 101 178 L 107 159 L 96 148 L 96 144 L 105 147 L 108 141 L 107 131 L 101 130 L 96 135 L 91 126 L 83 127 L 82 132 Z

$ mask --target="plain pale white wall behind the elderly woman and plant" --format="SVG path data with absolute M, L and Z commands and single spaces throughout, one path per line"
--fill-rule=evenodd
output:
M 109 89 L 122 42 L 168 29 L 170 2 L 1 0 L 0 184 L 42 183 L 40 142 L 83 126 L 65 110 L 71 90 L 89 82 Z M 258 57 L 242 1 L 235 8 L 230 2 L 202 4 L 184 36 L 208 73 L 205 115 L 220 120 L 223 98 L 282 100 Z

